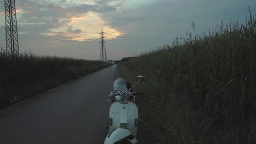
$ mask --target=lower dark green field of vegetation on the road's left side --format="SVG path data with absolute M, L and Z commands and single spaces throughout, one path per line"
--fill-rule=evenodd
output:
M 0 52 L 0 107 L 25 99 L 112 64 L 67 57 Z

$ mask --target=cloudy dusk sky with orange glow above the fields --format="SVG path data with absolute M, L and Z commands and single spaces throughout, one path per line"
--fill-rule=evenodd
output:
M 118 60 L 230 19 L 245 23 L 255 0 L 16 0 L 20 52 L 98 60 L 103 28 L 107 59 Z M 5 49 L 4 0 L 0 47 Z

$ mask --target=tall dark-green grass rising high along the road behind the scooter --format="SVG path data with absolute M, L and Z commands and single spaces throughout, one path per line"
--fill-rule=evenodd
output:
M 118 63 L 156 143 L 256 143 L 256 19 Z

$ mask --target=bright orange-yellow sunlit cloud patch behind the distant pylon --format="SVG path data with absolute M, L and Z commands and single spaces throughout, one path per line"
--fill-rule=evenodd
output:
M 69 19 L 59 19 L 60 22 L 65 25 L 49 29 L 50 33 L 43 33 L 44 35 L 54 36 L 62 35 L 63 39 L 76 40 L 76 41 L 89 41 L 91 39 L 98 39 L 101 37 L 99 34 L 101 28 L 106 32 L 105 39 L 116 39 L 124 35 L 123 32 L 117 29 L 107 26 L 106 22 L 101 18 L 99 14 L 89 12 L 84 15 L 73 16 Z M 79 30 L 79 33 L 75 33 L 75 30 Z

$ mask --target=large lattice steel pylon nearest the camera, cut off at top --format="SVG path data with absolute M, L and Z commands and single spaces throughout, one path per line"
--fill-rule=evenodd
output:
M 6 52 L 19 55 L 18 28 L 15 0 L 4 0 Z

